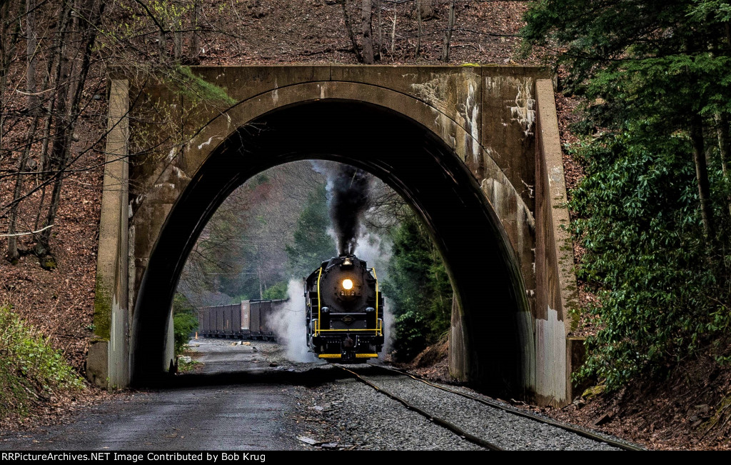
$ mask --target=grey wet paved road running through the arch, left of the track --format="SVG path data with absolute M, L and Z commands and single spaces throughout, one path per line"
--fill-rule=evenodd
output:
M 191 341 L 200 374 L 278 374 L 279 348 Z M 272 365 L 272 366 L 270 366 Z M 292 373 L 295 375 L 297 373 Z M 186 377 L 179 375 L 181 385 Z M 295 413 L 306 387 L 266 382 L 133 392 L 32 432 L 0 433 L 0 450 L 301 450 Z

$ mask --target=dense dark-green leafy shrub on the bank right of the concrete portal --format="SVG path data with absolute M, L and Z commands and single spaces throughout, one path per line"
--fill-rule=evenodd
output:
M 730 334 L 728 257 L 704 241 L 689 142 L 628 126 L 577 148 L 586 178 L 571 202 L 586 250 L 578 274 L 598 297 L 588 311 L 599 331 L 580 374 L 609 390 L 645 371 L 661 374 L 709 343 L 725 345 Z M 724 206 L 716 227 L 728 237 Z

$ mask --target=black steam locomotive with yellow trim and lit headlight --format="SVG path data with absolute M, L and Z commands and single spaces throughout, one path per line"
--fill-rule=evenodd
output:
M 363 363 L 383 348 L 383 295 L 355 255 L 322 262 L 305 279 L 307 345 L 319 358 Z

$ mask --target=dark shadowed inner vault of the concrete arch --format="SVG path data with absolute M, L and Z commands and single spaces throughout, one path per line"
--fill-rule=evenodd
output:
M 132 384 L 163 374 L 164 333 L 178 279 L 197 237 L 226 197 L 270 167 L 327 159 L 381 178 L 431 232 L 462 309 L 469 379 L 488 393 L 525 387 L 522 324 L 528 310 L 517 260 L 501 222 L 457 154 L 404 115 L 352 100 L 280 107 L 224 140 L 173 205 L 137 293 Z

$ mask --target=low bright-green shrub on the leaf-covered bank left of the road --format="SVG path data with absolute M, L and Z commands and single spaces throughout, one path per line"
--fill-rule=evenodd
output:
M 47 338 L 7 307 L 0 307 L 0 418 L 27 415 L 31 404 L 83 386 Z

